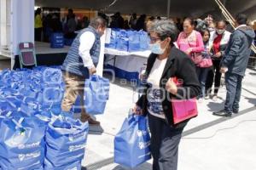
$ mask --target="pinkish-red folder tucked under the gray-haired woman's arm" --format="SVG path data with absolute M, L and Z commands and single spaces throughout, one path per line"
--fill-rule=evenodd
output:
M 177 86 L 181 86 L 177 77 L 172 79 Z M 189 120 L 198 115 L 196 98 L 194 99 L 172 99 L 173 123 L 177 124 Z

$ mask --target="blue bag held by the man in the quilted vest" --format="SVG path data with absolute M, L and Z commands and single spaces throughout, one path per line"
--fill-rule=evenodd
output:
M 109 95 L 109 80 L 93 75 L 85 81 L 84 105 L 86 112 L 92 115 L 103 114 Z

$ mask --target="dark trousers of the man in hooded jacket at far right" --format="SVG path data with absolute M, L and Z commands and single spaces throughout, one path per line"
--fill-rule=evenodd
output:
M 225 111 L 232 113 L 239 110 L 241 99 L 241 81 L 243 77 L 237 74 L 227 72 L 225 74 L 225 83 L 227 96 L 225 101 Z

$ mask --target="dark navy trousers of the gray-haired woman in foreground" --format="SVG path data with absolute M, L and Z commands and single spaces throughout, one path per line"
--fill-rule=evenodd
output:
M 165 120 L 148 114 L 153 170 L 177 170 L 178 144 L 183 128 L 173 128 Z

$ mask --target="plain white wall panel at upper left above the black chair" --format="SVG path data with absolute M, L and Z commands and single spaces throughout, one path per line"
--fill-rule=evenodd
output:
M 11 45 L 13 54 L 19 54 L 20 42 L 34 42 L 34 0 L 12 0 Z

